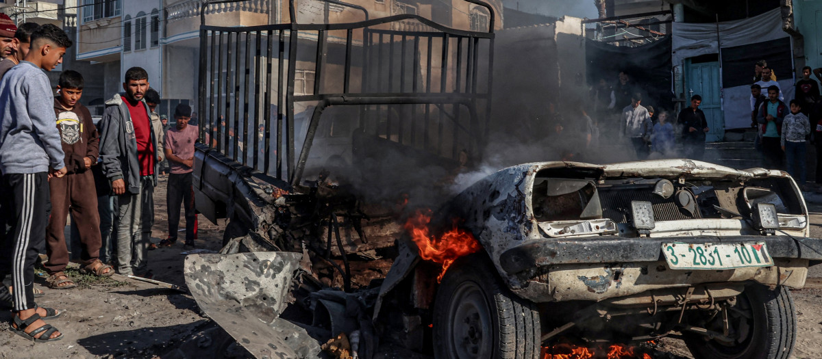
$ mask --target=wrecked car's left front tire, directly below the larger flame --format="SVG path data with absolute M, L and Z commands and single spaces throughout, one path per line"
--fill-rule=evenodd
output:
M 538 359 L 539 312 L 516 297 L 483 257 L 456 261 L 434 302 L 436 359 Z

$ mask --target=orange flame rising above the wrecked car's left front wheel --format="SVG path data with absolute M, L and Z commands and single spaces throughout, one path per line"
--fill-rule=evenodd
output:
M 480 248 L 477 239 L 463 229 L 457 228 L 456 221 L 451 229 L 442 234 L 440 238 L 429 234 L 428 223 L 431 222 L 431 211 L 417 211 L 405 222 L 405 230 L 411 234 L 411 239 L 417 243 L 419 256 L 427 261 L 433 261 L 442 265 L 440 275 L 436 276 L 436 282 L 442 280 L 446 275 L 446 270 L 451 263 L 459 258 L 477 252 Z

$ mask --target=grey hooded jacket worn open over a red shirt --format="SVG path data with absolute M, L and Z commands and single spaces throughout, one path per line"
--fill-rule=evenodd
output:
M 145 101 L 145 112 L 150 113 Z M 163 161 L 163 143 L 159 141 L 163 124 L 159 120 L 151 119 L 150 143 L 155 148 L 154 179 L 157 184 L 158 165 Z M 105 102 L 103 118 L 99 120 L 100 129 L 100 158 L 103 161 L 103 172 L 109 183 L 124 179 L 128 193 L 140 193 L 140 160 L 137 157 L 137 141 L 134 132 L 132 116 L 129 114 L 126 102 L 122 101 L 122 94 L 115 94 Z

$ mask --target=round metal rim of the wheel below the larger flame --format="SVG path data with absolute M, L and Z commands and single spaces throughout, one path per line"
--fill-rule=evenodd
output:
M 491 310 L 483 289 L 471 281 L 459 284 L 448 303 L 448 352 L 459 359 L 491 357 L 491 327 Z

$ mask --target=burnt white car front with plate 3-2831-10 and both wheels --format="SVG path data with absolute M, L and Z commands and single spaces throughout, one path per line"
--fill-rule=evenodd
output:
M 776 170 L 526 164 L 473 184 L 445 213 L 483 249 L 436 288 L 436 357 L 537 357 L 563 336 L 674 333 L 699 358 L 789 357 L 788 289 L 822 259 L 801 192 Z

